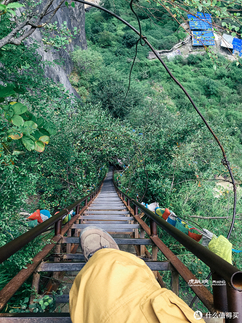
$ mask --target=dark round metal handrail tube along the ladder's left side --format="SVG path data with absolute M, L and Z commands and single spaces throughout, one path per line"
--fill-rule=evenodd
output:
M 105 176 L 104 176 L 104 178 L 105 178 Z M 4 262 L 6 259 L 8 259 L 10 256 L 14 255 L 15 252 L 17 252 L 18 250 L 23 248 L 30 241 L 35 239 L 38 235 L 45 232 L 45 230 L 48 229 L 51 225 L 56 224 L 59 220 L 61 220 L 63 218 L 63 216 L 69 214 L 70 211 L 72 211 L 73 209 L 78 207 L 78 205 L 80 205 L 80 203 L 82 203 L 83 201 L 85 201 L 86 199 L 91 197 L 93 194 L 95 194 L 99 190 L 102 183 L 103 183 L 103 181 L 99 184 L 98 188 L 95 191 L 93 191 L 92 193 L 84 196 L 80 200 L 77 200 L 75 203 L 67 206 L 65 209 L 63 209 L 59 213 L 51 216 L 48 220 L 45 220 L 44 222 L 38 224 L 34 228 L 28 230 L 24 234 L 21 234 L 20 236 L 18 236 L 14 240 L 10 241 L 6 245 L 3 245 L 2 247 L 0 247 L 0 264 L 2 262 Z M 67 212 L 67 210 L 68 210 L 68 212 Z M 61 228 L 61 226 L 60 226 L 60 228 Z M 56 232 L 55 232 L 55 235 L 56 235 Z

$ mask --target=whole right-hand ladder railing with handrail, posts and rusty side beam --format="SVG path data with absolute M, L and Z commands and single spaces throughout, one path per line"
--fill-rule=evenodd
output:
M 117 187 L 115 180 L 114 185 L 117 193 L 119 194 L 122 201 L 126 203 L 127 207 L 130 207 L 130 203 L 134 205 L 134 218 L 136 219 L 136 221 L 145 229 L 150 239 L 154 242 L 158 249 L 160 249 L 160 251 L 167 257 L 167 259 L 172 263 L 177 272 L 184 278 L 184 280 L 187 283 L 188 276 L 187 273 L 184 272 L 185 265 L 182 264 L 180 260 L 174 255 L 169 259 L 169 253 L 167 253 L 167 250 L 165 249 L 163 242 L 157 236 L 156 225 L 165 230 L 179 243 L 181 243 L 187 250 L 189 250 L 193 255 L 197 256 L 198 259 L 205 263 L 212 272 L 212 280 L 226 282 L 226 285 L 223 286 L 212 286 L 213 304 L 211 304 L 211 302 L 206 299 L 206 291 L 205 294 L 203 291 L 200 295 L 198 295 L 197 292 L 199 291 L 199 288 L 197 289 L 193 288 L 192 285 L 190 286 L 195 292 L 195 294 L 205 304 L 205 306 L 207 308 L 211 308 L 211 306 L 213 305 L 214 309 L 219 312 L 239 313 L 240 318 L 233 319 L 233 322 L 242 322 L 242 271 L 228 263 L 223 258 L 216 255 L 215 253 L 213 253 L 205 246 L 201 245 L 182 231 L 178 230 L 173 225 L 167 223 L 163 218 L 148 210 L 144 205 L 138 203 L 135 199 L 133 199 L 126 193 L 122 192 Z M 138 209 L 144 214 L 146 214 L 150 219 L 150 231 L 147 230 L 147 224 L 145 224 L 144 221 L 138 216 Z M 174 258 L 176 258 L 175 261 Z M 179 261 L 177 262 L 177 260 Z

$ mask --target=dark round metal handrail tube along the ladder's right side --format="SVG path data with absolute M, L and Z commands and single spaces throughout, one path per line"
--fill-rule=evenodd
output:
M 138 203 L 126 193 L 122 192 L 117 187 L 115 181 L 114 185 L 117 191 L 120 192 L 120 194 L 122 194 L 123 196 L 125 196 L 129 200 L 129 202 L 133 203 L 151 220 L 156 222 L 156 224 L 162 227 L 168 234 L 173 236 L 178 242 L 180 242 L 185 248 L 187 248 L 187 250 L 191 251 L 195 256 L 202 260 L 211 269 L 212 272 L 224 278 L 236 290 L 242 290 L 242 271 L 240 271 L 237 267 L 229 264 L 226 260 L 219 257 L 203 245 L 199 244 L 187 234 L 183 233 L 182 231 L 175 228 L 173 225 L 166 222 L 163 218 L 148 210 L 144 205 Z

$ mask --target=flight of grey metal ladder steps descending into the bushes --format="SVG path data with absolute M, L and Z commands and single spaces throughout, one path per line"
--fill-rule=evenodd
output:
M 144 230 L 140 224 L 137 224 L 132 214 L 130 214 L 130 210 L 128 210 L 127 206 L 117 194 L 113 183 L 113 170 L 110 168 L 100 193 L 91 201 L 83 214 L 80 214 L 76 223 L 70 226 L 67 237 L 63 237 L 62 242 L 56 245 L 54 253 L 55 261 L 42 262 L 36 268 L 32 288 L 35 288 L 35 290 L 38 291 L 39 288 L 37 285 L 39 283 L 40 272 L 53 272 L 53 279 L 55 280 L 54 285 L 58 285 L 59 281 L 61 286 L 67 287 L 65 291 L 66 295 L 57 295 L 56 302 L 64 304 L 69 301 L 69 290 L 72 286 L 72 282 L 77 273 L 86 264 L 78 245 L 78 236 L 80 232 L 89 225 L 95 225 L 111 234 L 120 250 L 133 253 L 138 257 L 143 258 L 146 261 L 147 266 L 154 271 L 156 277 L 158 270 L 168 269 L 169 264 L 165 261 L 157 261 L 157 255 L 155 257 L 156 260 L 152 261 L 152 256 L 149 255 L 145 245 L 153 245 L 153 243 L 150 239 L 139 237 L 138 229 L 142 232 Z M 71 236 L 73 229 L 75 230 L 75 234 L 74 236 Z M 62 244 L 66 244 L 66 253 L 63 253 L 61 250 Z M 157 249 L 157 247 L 154 246 L 153 248 Z M 168 270 L 171 270 L 171 268 Z M 35 277 L 38 277 L 38 279 Z M 49 286 L 46 294 L 51 293 L 53 290 L 52 287 L 53 285 Z M 162 285 L 162 287 L 164 287 L 164 285 Z M 66 311 L 67 308 L 65 307 L 64 310 Z

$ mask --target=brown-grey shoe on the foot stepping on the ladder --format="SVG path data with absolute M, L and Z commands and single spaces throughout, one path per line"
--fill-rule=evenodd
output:
M 82 230 L 79 241 L 86 262 L 97 250 L 103 248 L 119 250 L 118 245 L 111 235 L 95 225 L 90 225 Z

